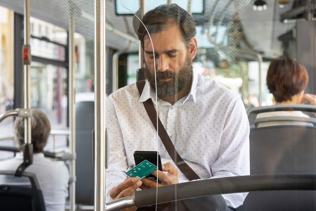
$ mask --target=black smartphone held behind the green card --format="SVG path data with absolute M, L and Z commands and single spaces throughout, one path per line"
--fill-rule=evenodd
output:
M 157 165 L 157 153 L 158 153 L 158 165 Z M 161 165 L 161 158 L 160 153 L 157 151 L 135 151 L 134 152 L 134 159 L 135 164 L 138 165 L 144 160 L 148 160 L 150 163 L 154 164 L 155 166 L 158 166 L 158 170 L 162 171 L 162 165 Z M 157 177 L 150 174 L 146 178 L 157 181 Z M 158 183 L 161 183 L 161 181 L 158 179 Z

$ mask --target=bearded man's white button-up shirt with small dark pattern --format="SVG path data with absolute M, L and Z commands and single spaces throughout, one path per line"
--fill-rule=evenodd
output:
M 135 167 L 134 151 L 158 151 L 162 164 L 176 168 L 150 121 L 143 102 L 155 92 L 146 81 L 142 95 L 136 84 L 107 98 L 106 127 L 110 155 L 106 169 L 106 201 L 110 190 Z M 241 99 L 212 79 L 193 71 L 191 90 L 174 105 L 158 99 L 158 115 L 177 152 L 202 179 L 250 174 L 249 122 Z M 158 148 L 157 148 L 158 147 Z M 178 169 L 179 170 L 179 169 Z M 179 182 L 189 181 L 179 170 Z M 246 193 L 223 195 L 229 207 L 242 205 Z

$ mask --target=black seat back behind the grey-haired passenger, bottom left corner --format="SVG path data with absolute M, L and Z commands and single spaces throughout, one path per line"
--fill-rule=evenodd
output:
M 15 171 L 0 171 L 0 210 L 45 211 L 40 183 L 35 174 L 24 172 L 15 177 Z

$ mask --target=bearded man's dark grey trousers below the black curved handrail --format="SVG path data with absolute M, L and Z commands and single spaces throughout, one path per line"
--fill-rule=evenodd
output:
M 156 205 L 138 208 L 137 211 L 155 211 Z M 157 211 L 231 211 L 222 195 L 202 196 L 171 202 L 167 207 L 157 205 Z

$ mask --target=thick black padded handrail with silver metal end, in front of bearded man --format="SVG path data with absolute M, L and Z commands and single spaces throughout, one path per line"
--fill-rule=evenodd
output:
M 138 208 L 156 203 L 172 202 L 207 195 L 246 193 L 273 190 L 316 190 L 316 174 L 265 174 L 197 180 L 135 192 L 106 203 L 106 211 L 131 206 Z

